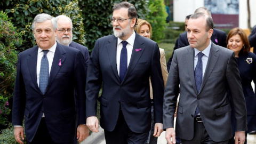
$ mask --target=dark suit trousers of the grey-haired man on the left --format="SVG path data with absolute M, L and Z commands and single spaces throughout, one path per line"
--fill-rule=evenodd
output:
M 45 123 L 45 118 L 43 117 L 40 121 L 40 124 L 38 126 L 38 129 L 36 131 L 34 139 L 29 142 L 27 141 L 28 144 L 73 144 L 74 142 L 68 142 L 68 143 L 56 143 L 54 142 L 49 134 L 49 131 L 47 129 L 46 123 Z

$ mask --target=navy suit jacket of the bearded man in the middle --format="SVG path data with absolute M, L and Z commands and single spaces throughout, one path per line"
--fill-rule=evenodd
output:
M 113 131 L 122 107 L 125 122 L 133 132 L 148 132 L 151 124 L 149 76 L 153 85 L 155 122 L 163 122 L 164 83 L 158 45 L 135 34 L 130 64 L 122 83 L 116 67 L 116 46 L 114 35 L 99 38 L 94 45 L 87 71 L 86 117 L 96 116 L 103 83 L 99 98 L 101 127 Z

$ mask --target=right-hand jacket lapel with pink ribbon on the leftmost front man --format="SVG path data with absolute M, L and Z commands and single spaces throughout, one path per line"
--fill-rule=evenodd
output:
M 48 89 L 48 87 L 52 84 L 55 76 L 58 74 L 61 66 L 59 66 L 59 62 L 61 60 L 61 65 L 63 65 L 66 57 L 63 55 L 65 54 L 66 51 L 63 48 L 63 46 L 59 43 L 57 43 L 57 47 L 54 53 L 54 57 L 53 57 L 53 61 L 52 61 L 52 67 L 51 67 L 51 72 L 50 72 L 50 76 L 49 76 L 49 82 L 48 82 L 48 86 L 46 88 L 46 91 Z

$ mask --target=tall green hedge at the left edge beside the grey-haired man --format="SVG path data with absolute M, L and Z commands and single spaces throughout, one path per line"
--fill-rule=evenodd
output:
M 0 125 L 4 127 L 11 111 L 9 101 L 14 92 L 15 64 L 18 59 L 15 49 L 22 44 L 20 35 L 7 14 L 0 11 Z

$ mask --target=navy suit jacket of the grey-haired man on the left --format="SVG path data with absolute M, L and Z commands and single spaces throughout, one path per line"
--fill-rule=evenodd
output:
M 81 51 L 57 43 L 49 83 L 45 94 L 37 84 L 38 46 L 19 54 L 17 77 L 13 96 L 12 124 L 22 125 L 32 141 L 42 115 L 50 136 L 55 142 L 71 142 L 76 138 L 76 114 L 78 124 L 85 124 L 86 69 Z M 61 66 L 59 66 L 61 60 Z M 74 97 L 74 89 L 77 97 Z M 78 99 L 79 103 L 75 103 Z M 75 110 L 78 105 L 78 111 Z

